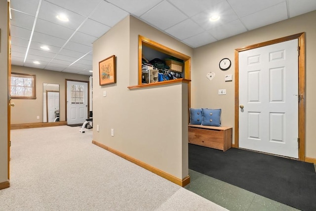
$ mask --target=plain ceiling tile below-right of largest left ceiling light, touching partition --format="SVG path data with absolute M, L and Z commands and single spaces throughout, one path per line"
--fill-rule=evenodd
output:
M 85 33 L 87 35 L 94 36 L 96 38 L 100 38 L 111 28 L 97 21 L 87 19 L 84 24 L 79 28 L 79 32 Z

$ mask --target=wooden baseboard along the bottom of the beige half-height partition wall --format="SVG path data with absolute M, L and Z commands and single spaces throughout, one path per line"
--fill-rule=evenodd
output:
M 175 176 L 173 176 L 173 175 L 171 175 L 169 173 L 166 173 L 166 172 L 164 172 L 164 171 L 162 171 L 160 169 L 152 167 L 152 166 L 150 166 L 150 165 L 148 165 L 148 164 L 146 164 L 144 162 L 141 162 L 141 161 L 139 161 L 139 160 L 137 160 L 135 158 L 132 158 L 132 157 L 130 157 L 128 155 L 125 155 L 125 154 L 123 154 L 121 152 L 118 152 L 117 150 L 112 149 L 112 148 L 110 148 L 110 147 L 108 147 L 108 146 L 106 146 L 104 144 L 101 144 L 101 143 L 99 143 L 97 141 L 92 140 L 92 143 L 97 145 L 97 146 L 99 146 L 99 147 L 101 147 L 101 148 L 103 148 L 103 149 L 105 149 L 105 150 L 107 150 L 107 151 L 109 151 L 109 152 L 112 152 L 112 153 L 118 155 L 119 157 L 124 158 L 125 160 L 130 161 L 130 162 L 132 162 L 132 163 L 134 163 L 134 164 L 136 164 L 136 165 L 138 165 L 138 166 L 140 166 L 140 167 L 142 167 L 144 169 L 147 169 L 147 170 L 149 170 L 149 171 L 151 171 L 153 173 L 156 173 L 157 175 L 159 175 L 159 176 L 161 176 L 161 177 L 163 177 L 163 178 L 165 178 L 165 179 L 167 179 L 167 180 L 169 180 L 169 181 L 171 181 L 171 182 L 173 182 L 173 183 L 175 183 L 177 185 L 180 185 L 180 186 L 184 187 L 184 186 L 186 186 L 187 184 L 190 183 L 190 176 L 189 175 L 186 176 L 183 179 L 179 179 L 179 178 L 177 178 L 177 177 L 175 177 Z

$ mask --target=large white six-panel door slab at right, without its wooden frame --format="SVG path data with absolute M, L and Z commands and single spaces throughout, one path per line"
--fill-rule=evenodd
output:
M 238 57 L 239 147 L 298 158 L 298 40 Z

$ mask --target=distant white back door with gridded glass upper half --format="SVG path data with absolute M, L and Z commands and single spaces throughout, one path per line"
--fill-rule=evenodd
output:
M 83 124 L 88 118 L 88 83 L 67 81 L 67 124 Z

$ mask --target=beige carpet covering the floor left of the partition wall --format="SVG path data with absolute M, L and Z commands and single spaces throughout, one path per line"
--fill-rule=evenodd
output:
M 11 130 L 0 211 L 226 210 L 91 141 L 79 127 Z

